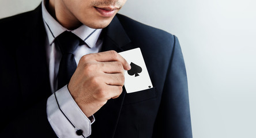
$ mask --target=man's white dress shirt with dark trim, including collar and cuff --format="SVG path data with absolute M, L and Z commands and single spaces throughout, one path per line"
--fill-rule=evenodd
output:
M 75 30 L 64 28 L 48 13 L 45 1 L 42 1 L 42 13 L 44 27 L 47 33 L 46 53 L 47 64 L 49 68 L 50 84 L 52 95 L 47 99 L 47 117 L 52 129 L 58 137 L 88 137 L 91 135 L 91 124 L 95 121 L 94 117 L 89 120 L 88 117 L 78 107 L 71 97 L 67 86 L 57 91 L 59 62 L 61 61 L 61 51 L 55 45 L 54 40 L 59 34 L 70 31 L 76 34 L 86 44 L 79 45 L 74 52 L 74 59 L 78 64 L 80 58 L 88 53 L 99 52 L 102 46 L 100 33 L 102 29 L 92 29 L 88 26 L 81 25 Z M 77 130 L 82 130 L 82 135 L 77 135 Z

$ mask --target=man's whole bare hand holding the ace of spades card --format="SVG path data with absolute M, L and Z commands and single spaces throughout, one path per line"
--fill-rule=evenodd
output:
M 118 98 L 129 63 L 115 51 L 81 57 L 68 89 L 85 116 L 96 113 L 110 98 Z

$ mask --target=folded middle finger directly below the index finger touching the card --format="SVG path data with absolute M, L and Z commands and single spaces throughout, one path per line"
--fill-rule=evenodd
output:
M 125 74 L 123 64 L 121 62 L 100 62 L 101 71 L 107 74 L 121 73 Z

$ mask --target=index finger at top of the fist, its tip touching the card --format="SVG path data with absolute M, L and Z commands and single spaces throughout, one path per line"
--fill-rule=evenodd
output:
M 90 59 L 95 59 L 97 62 L 121 62 L 125 70 L 130 70 L 131 66 L 127 61 L 115 51 L 106 51 L 86 55 Z

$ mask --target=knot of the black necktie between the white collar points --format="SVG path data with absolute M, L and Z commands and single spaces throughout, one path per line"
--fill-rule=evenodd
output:
M 80 44 L 80 38 L 76 34 L 65 31 L 55 39 L 62 54 L 73 54 Z

